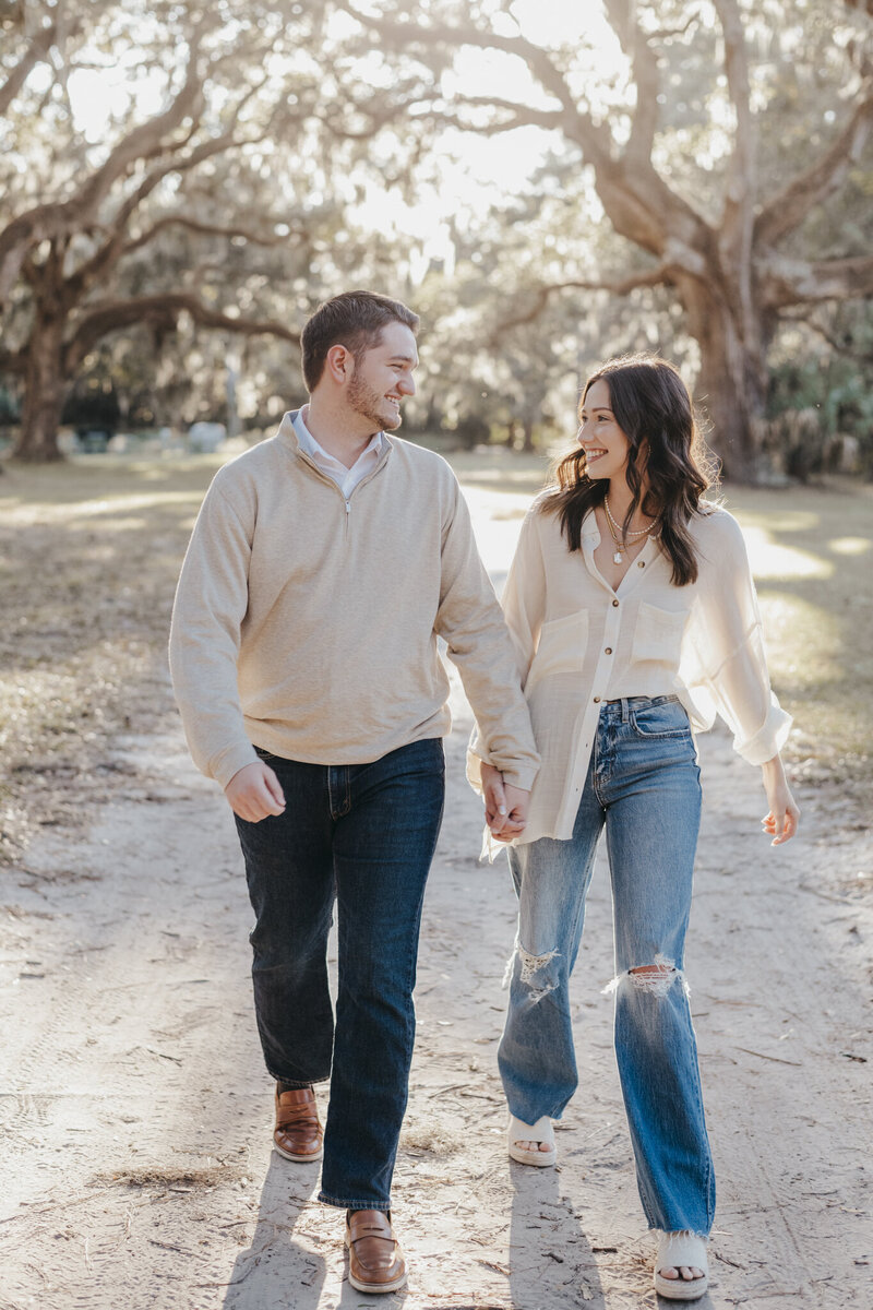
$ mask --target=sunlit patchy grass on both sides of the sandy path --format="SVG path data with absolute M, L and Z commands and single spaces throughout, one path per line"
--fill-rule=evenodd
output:
M 0 859 L 130 785 L 123 740 L 169 722 L 173 590 L 226 456 L 80 456 L 0 477 Z M 547 460 L 452 455 L 495 523 Z M 774 685 L 794 715 L 792 770 L 868 804 L 873 783 L 873 489 L 728 489 L 747 532 Z

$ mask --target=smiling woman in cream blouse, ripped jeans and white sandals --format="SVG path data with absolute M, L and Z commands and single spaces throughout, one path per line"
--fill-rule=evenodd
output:
M 707 1289 L 715 1179 L 683 946 L 700 817 L 696 728 L 716 713 L 760 765 L 772 845 L 798 810 L 779 748 L 760 618 L 736 520 L 704 500 L 704 448 L 687 388 L 653 356 L 586 384 L 580 449 L 521 529 L 504 609 L 541 772 L 509 850 L 520 899 L 499 1049 L 509 1154 L 552 1165 L 552 1119 L 576 1090 L 568 982 L 597 840 L 606 828 L 615 930 L 615 1049 L 657 1292 Z M 474 734 L 470 777 L 499 774 Z M 490 812 L 486 814 L 492 820 Z

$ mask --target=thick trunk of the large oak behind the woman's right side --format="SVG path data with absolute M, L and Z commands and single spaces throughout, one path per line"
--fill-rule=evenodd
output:
M 707 441 L 721 460 L 724 477 L 757 482 L 762 469 L 755 421 L 763 417 L 767 398 L 766 347 L 743 338 L 734 307 L 711 284 L 694 282 L 681 290 L 688 330 L 700 347 L 695 400 L 709 419 Z

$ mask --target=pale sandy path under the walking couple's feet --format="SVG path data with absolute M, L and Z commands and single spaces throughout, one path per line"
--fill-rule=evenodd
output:
M 516 528 L 490 544 L 492 563 Z M 575 975 L 581 1086 L 559 1167 L 507 1159 L 495 1051 L 514 905 L 505 862 L 475 859 L 457 686 L 454 701 L 395 1174 L 406 1292 L 376 1302 L 351 1289 L 342 1217 L 314 1200 L 317 1167 L 270 1150 L 236 834 L 164 713 L 149 738 L 115 743 L 130 786 L 96 806 L 88 831 L 41 837 L 7 874 L 3 1310 L 656 1305 L 602 994 L 602 859 Z M 869 1310 L 869 831 L 838 793 L 801 793 L 802 838 L 771 850 L 755 772 L 724 735 L 703 739 L 702 756 L 687 976 L 720 1201 L 698 1305 Z

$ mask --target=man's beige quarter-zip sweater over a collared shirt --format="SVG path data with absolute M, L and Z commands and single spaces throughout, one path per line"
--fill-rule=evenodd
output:
M 195 764 L 224 787 L 255 745 L 346 765 L 444 736 L 440 635 L 483 753 L 529 789 L 539 756 L 454 473 L 386 436 L 347 498 L 293 419 L 219 470 L 182 566 L 170 671 Z

